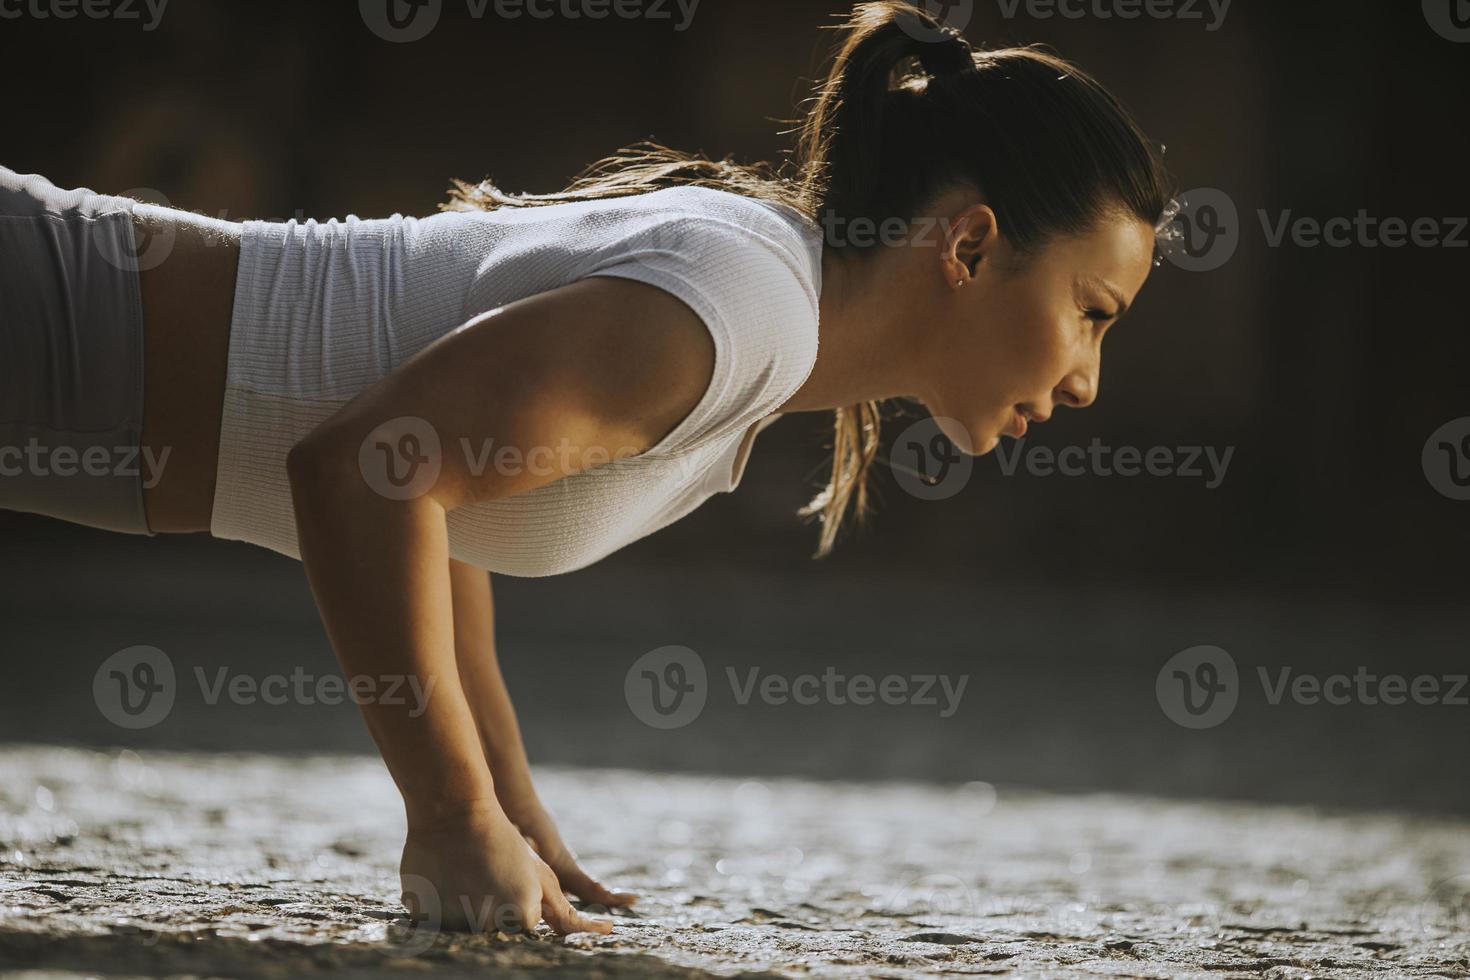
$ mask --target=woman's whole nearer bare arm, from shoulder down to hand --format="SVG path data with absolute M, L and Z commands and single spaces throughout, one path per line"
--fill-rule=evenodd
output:
M 447 513 L 563 473 L 476 467 L 457 447 L 564 447 L 566 473 L 642 453 L 698 403 L 713 363 L 703 322 L 672 295 L 587 279 L 453 331 L 290 453 L 301 560 L 343 670 L 416 676 L 432 691 L 422 714 L 362 711 L 404 798 L 406 899 L 410 876 L 428 879 L 451 927 L 529 929 L 544 914 L 560 932 L 607 929 L 570 908 L 497 802 L 454 648 Z M 432 486 L 409 500 L 378 492 L 360 450 L 400 445 L 423 425 L 442 447 Z

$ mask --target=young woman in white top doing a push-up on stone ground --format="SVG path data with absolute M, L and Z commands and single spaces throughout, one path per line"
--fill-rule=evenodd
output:
M 782 170 L 645 147 L 562 194 L 460 184 L 432 217 L 326 223 L 0 170 L 0 507 L 300 557 L 345 673 L 434 683 L 417 716 L 363 705 L 410 908 L 609 932 L 566 893 L 632 896 L 537 799 L 485 570 L 569 572 L 678 520 L 789 411 L 836 410 L 803 511 L 828 552 L 883 400 L 972 454 L 1092 403 L 1169 200 L 1082 71 L 895 1 L 842 26 Z

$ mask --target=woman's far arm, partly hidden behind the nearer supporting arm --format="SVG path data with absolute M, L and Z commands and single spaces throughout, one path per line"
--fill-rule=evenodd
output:
M 495 602 L 490 574 L 463 561 L 451 561 L 450 583 L 460 685 L 475 714 L 490 771 L 495 776 L 495 798 L 501 810 L 520 833 L 535 842 L 537 854 L 556 873 L 563 890 L 598 905 L 632 905 L 637 895 L 614 892 L 582 870 L 531 782 L 516 708 L 495 651 Z

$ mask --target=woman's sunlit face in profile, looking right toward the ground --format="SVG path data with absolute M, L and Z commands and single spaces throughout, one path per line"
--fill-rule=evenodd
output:
M 976 206 L 956 220 L 919 398 L 961 451 L 983 455 L 1058 407 L 1092 404 L 1102 338 L 1148 279 L 1154 229 L 1108 217 L 1017 267 L 994 212 Z

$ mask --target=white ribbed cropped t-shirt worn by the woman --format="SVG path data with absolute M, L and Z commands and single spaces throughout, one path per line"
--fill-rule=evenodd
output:
M 822 231 L 681 187 L 415 219 L 245 222 L 210 532 L 300 557 L 287 453 L 466 320 L 587 276 L 666 289 L 704 320 L 714 373 L 637 457 L 448 514 L 450 554 L 516 576 L 585 567 L 739 485 L 756 432 L 817 356 Z M 485 448 L 473 451 L 484 463 Z

